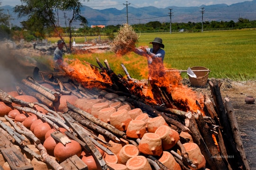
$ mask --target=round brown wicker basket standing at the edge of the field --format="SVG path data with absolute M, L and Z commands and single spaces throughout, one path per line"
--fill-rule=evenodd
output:
M 191 85 L 194 87 L 204 87 L 207 83 L 210 70 L 208 68 L 201 67 L 201 66 L 195 66 L 195 67 L 192 67 L 191 69 L 197 76 L 197 78 L 194 78 L 188 75 Z M 196 70 L 200 70 L 200 71 L 196 71 Z M 202 70 L 205 70 L 205 71 L 202 71 Z

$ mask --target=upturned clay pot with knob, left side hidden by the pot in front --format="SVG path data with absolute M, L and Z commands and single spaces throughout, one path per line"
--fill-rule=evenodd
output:
M 174 145 L 180 140 L 179 133 L 166 125 L 158 127 L 155 130 L 155 134 L 160 136 L 164 151 L 174 147 Z

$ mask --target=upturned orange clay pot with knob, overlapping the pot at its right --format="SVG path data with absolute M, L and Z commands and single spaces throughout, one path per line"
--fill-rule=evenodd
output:
M 138 145 L 139 152 L 147 155 L 160 156 L 163 153 L 162 141 L 159 135 L 155 133 L 146 133 Z

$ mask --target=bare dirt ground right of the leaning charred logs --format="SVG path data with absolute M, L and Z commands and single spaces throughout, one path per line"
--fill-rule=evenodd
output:
M 237 117 L 247 161 L 251 170 L 256 170 L 256 104 L 247 104 L 245 102 L 245 97 L 248 95 L 256 98 L 256 81 L 238 82 L 229 79 L 219 79 L 218 81 L 221 83 L 222 99 L 229 97 Z M 195 90 L 210 95 L 210 87 L 208 85 Z

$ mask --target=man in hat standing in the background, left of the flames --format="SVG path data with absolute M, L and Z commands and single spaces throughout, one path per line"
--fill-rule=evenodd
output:
M 63 65 L 63 47 L 65 42 L 63 40 L 59 40 L 57 42 L 57 47 L 54 51 L 54 61 L 55 61 L 55 71 L 59 70 L 59 66 Z

